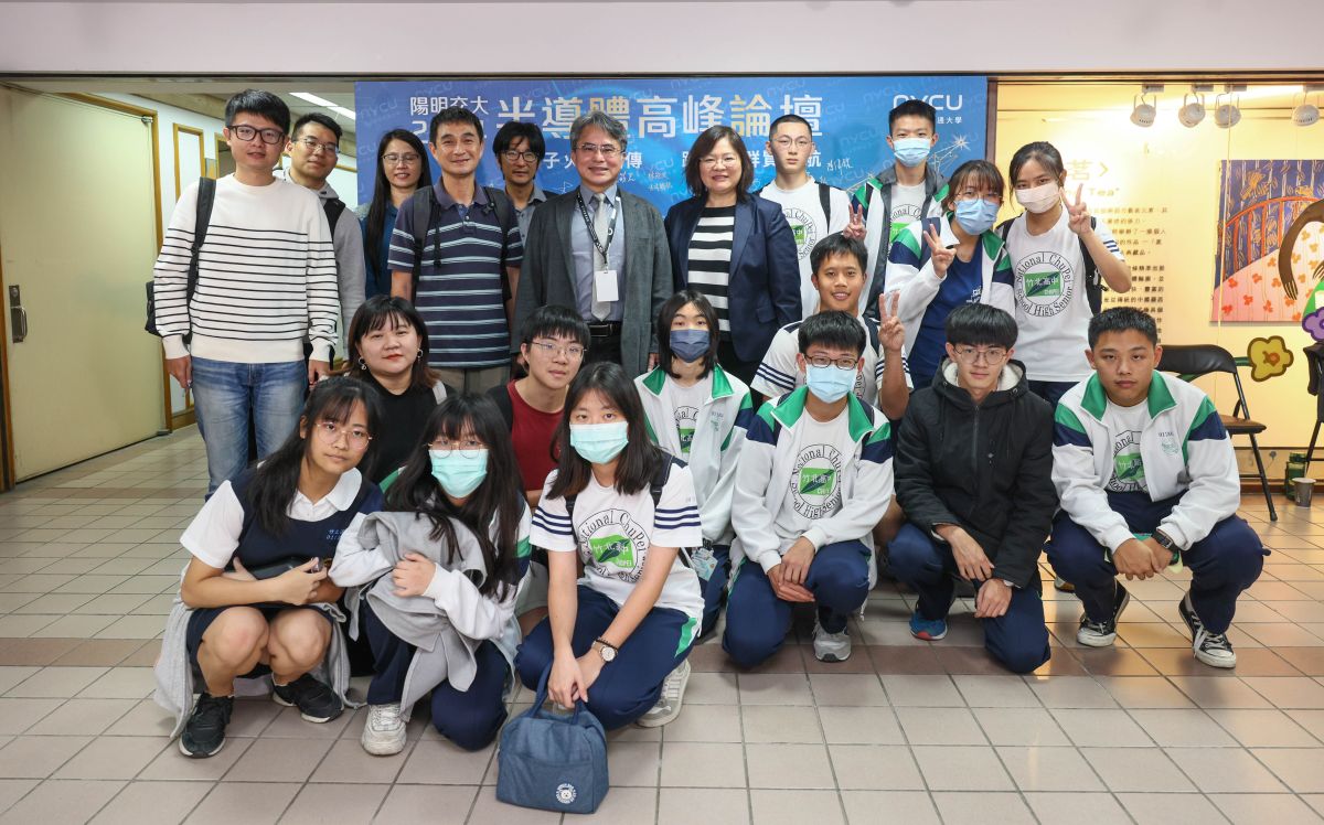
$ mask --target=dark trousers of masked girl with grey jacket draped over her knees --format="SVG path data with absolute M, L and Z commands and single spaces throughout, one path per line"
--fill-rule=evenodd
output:
M 367 633 L 376 658 L 377 674 L 368 685 L 368 704 L 399 702 L 413 659 L 413 645 L 391 633 L 367 600 L 359 603 L 359 626 Z M 474 659 L 478 673 L 469 690 L 457 690 L 450 682 L 432 689 L 433 727 L 466 751 L 478 751 L 491 744 L 506 722 L 504 693 L 510 663 L 491 642 L 481 644 L 474 652 Z

